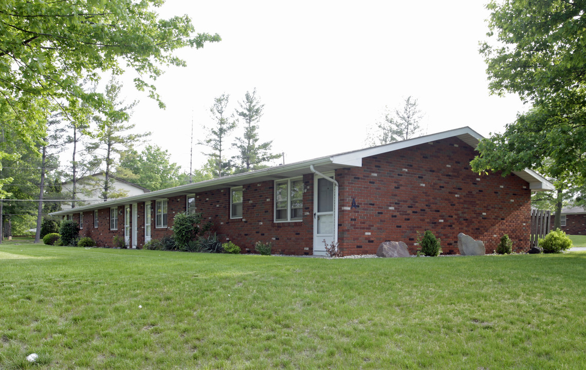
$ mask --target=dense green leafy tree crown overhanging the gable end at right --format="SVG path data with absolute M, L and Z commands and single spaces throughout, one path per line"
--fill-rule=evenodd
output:
M 475 172 L 536 168 L 568 186 L 586 180 L 586 17 L 583 1 L 491 1 L 481 53 L 490 90 L 519 94 L 526 114 L 476 148 Z

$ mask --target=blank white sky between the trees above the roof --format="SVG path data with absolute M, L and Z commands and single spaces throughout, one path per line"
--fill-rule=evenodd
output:
M 385 106 L 412 95 L 427 133 L 470 126 L 502 132 L 526 107 L 515 96 L 490 96 L 478 42 L 486 39 L 485 1 L 185 1 L 167 0 L 161 16 L 187 13 L 197 32 L 222 42 L 184 49 L 186 68 L 156 81 L 167 108 L 140 100 L 131 118 L 138 131 L 189 170 L 190 127 L 203 139 L 209 108 L 223 92 L 231 107 L 257 88 L 265 104 L 262 141 L 285 162 L 364 147 L 367 128 Z M 194 148 L 194 168 L 205 162 Z

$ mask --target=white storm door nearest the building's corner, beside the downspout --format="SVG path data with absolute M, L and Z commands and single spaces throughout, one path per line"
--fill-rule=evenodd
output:
M 333 174 L 326 174 L 333 179 Z M 325 256 L 325 243 L 335 243 L 337 210 L 335 207 L 336 189 L 332 181 L 314 176 L 314 255 Z

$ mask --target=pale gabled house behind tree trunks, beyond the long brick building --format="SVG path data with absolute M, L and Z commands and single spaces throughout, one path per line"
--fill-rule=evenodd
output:
M 110 194 L 122 194 L 122 196 L 125 197 L 132 197 L 149 193 L 150 191 L 142 186 L 129 183 L 128 181 L 122 180 L 116 176 L 110 175 L 110 179 L 112 179 L 110 183 L 110 190 L 108 190 Z M 81 177 L 79 180 L 77 180 L 76 199 L 83 200 L 83 202 L 76 202 L 76 207 L 79 207 L 80 205 L 104 202 L 104 198 L 102 196 L 102 187 L 104 186 L 104 182 L 104 172 L 90 174 L 88 176 Z M 66 181 L 62 183 L 61 186 L 61 193 L 63 194 L 63 196 L 71 198 L 71 194 L 73 194 L 73 181 Z M 70 210 L 71 203 L 63 202 L 63 204 L 61 205 L 61 209 Z

